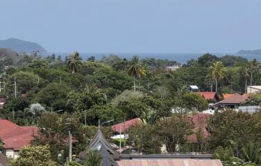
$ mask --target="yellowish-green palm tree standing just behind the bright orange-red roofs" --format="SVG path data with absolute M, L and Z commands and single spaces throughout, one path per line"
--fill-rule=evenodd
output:
M 216 82 L 216 92 L 217 92 L 217 80 L 221 80 L 226 76 L 226 69 L 224 68 L 222 62 L 214 62 L 211 66 L 212 77 Z

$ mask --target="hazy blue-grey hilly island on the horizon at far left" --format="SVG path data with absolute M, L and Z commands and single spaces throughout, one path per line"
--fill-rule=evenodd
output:
M 10 48 L 17 53 L 31 53 L 32 51 L 39 51 L 40 54 L 47 54 L 47 50 L 40 46 L 40 44 L 34 42 L 26 42 L 22 39 L 10 38 L 0 40 L 0 48 Z

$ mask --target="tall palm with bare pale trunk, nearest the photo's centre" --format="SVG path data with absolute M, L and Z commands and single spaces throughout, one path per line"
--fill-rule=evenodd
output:
M 141 77 L 142 75 L 142 66 L 139 62 L 139 57 L 137 55 L 133 56 L 133 59 L 131 59 L 129 67 L 128 67 L 128 73 L 130 75 L 133 75 L 133 86 L 134 86 L 134 92 L 136 92 L 136 85 L 135 85 L 135 79 L 137 77 Z

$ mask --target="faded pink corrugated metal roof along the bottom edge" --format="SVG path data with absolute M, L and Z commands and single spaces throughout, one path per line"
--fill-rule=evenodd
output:
M 162 159 L 162 160 L 120 160 L 119 166 L 222 166 L 220 160 Z

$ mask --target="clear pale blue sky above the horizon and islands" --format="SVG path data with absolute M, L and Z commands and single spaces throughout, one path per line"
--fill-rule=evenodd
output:
M 261 48 L 260 0 L 0 0 L 0 39 L 69 53 Z

